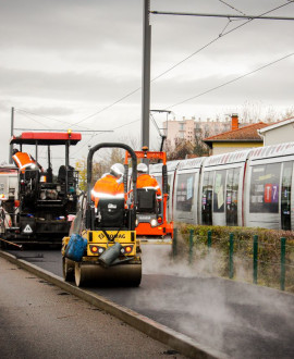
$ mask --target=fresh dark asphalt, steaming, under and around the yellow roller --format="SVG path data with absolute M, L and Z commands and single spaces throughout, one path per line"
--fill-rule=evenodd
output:
M 197 276 L 173 263 L 169 246 L 143 246 L 138 288 L 89 288 L 233 358 L 294 358 L 294 296 Z M 14 256 L 62 276 L 60 249 Z

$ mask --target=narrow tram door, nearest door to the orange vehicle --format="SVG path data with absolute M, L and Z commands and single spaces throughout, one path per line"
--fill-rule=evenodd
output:
M 212 225 L 212 185 L 215 171 L 204 173 L 201 218 L 204 225 Z

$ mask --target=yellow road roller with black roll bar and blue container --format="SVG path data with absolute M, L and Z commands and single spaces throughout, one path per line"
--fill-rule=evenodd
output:
M 122 198 L 100 198 L 97 208 L 91 200 L 93 157 L 101 148 L 121 148 L 132 159 L 132 183 L 128 165 L 123 176 Z M 138 286 L 142 280 L 139 239 L 136 238 L 137 159 L 124 144 L 103 143 L 90 148 L 87 157 L 87 191 L 72 223 L 69 236 L 62 240 L 64 281 L 76 286 Z M 128 188 L 130 186 L 130 188 Z

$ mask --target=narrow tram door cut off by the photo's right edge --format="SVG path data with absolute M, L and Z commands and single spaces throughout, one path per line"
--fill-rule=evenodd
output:
M 293 162 L 283 163 L 281 190 L 281 227 L 291 231 L 291 183 Z

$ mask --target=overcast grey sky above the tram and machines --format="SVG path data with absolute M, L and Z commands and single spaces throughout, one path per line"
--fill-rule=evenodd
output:
M 150 10 L 260 15 L 283 4 L 268 15 L 294 17 L 287 0 L 151 0 Z M 0 162 L 9 156 L 12 107 L 15 128 L 114 129 L 83 134 L 73 162 L 100 141 L 132 137 L 140 145 L 143 0 L 0 0 Z M 159 77 L 151 82 L 150 108 L 172 110 L 170 119 L 176 120 L 222 120 L 244 108 L 264 116 L 293 109 L 294 55 L 287 55 L 294 52 L 294 22 L 255 20 L 226 34 L 245 22 L 151 14 L 151 78 Z M 166 115 L 154 116 L 161 127 Z M 150 127 L 151 147 L 158 149 Z

